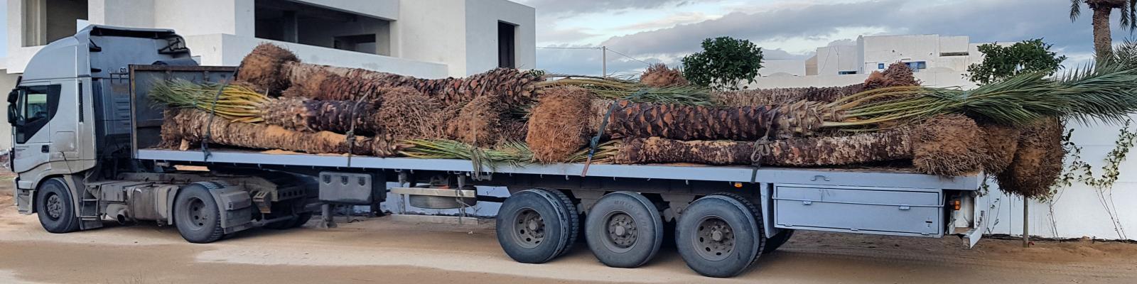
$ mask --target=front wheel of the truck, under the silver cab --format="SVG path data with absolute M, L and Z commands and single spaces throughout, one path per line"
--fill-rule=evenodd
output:
M 35 191 L 35 211 L 43 229 L 55 233 L 78 231 L 78 216 L 75 215 L 75 202 L 70 190 L 60 178 L 49 178 Z

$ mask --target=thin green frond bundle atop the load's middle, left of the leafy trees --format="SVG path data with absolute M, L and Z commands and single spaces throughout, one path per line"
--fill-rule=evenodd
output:
M 711 106 L 711 91 L 692 85 L 648 86 L 639 82 L 574 75 L 562 76 L 537 83 L 538 87 L 579 86 L 588 90 L 598 99 L 631 100 L 634 102 L 654 102 L 682 106 Z

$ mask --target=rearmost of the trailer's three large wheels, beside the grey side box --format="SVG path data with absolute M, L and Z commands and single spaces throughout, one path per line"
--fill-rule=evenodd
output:
M 698 274 L 731 277 L 746 270 L 762 251 L 762 223 L 749 201 L 714 194 L 691 202 L 675 225 L 679 256 Z

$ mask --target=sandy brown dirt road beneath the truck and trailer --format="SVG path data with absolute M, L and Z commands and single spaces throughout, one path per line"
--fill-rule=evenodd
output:
M 172 227 L 45 233 L 0 195 L 0 283 L 1137 283 L 1137 245 L 795 235 L 730 279 L 687 269 L 673 248 L 646 267 L 608 268 L 579 243 L 546 265 L 509 260 L 492 226 L 375 218 L 317 229 L 254 229 L 189 244 Z

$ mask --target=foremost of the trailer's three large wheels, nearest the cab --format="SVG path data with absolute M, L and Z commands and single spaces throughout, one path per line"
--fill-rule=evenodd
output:
M 517 262 L 548 262 L 568 248 L 575 218 L 575 208 L 553 191 L 516 192 L 498 210 L 498 244 Z

